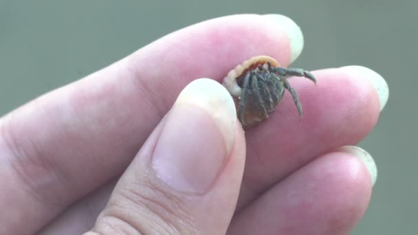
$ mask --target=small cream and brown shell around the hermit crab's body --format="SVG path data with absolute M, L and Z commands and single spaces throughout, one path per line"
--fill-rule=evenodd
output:
M 270 63 L 270 66 L 272 67 L 280 66 L 280 64 L 270 56 L 254 56 L 248 60 L 245 60 L 243 63 L 241 63 L 241 65 L 237 65 L 228 73 L 225 78 L 223 78 L 222 85 L 228 89 L 232 98 L 234 98 L 236 111 L 239 111 L 240 109 L 238 103 L 239 100 L 241 100 L 242 93 L 241 87 L 239 87 L 238 83 L 236 82 L 237 78 L 245 76 L 248 71 L 256 69 L 256 67 L 265 66 L 267 62 Z M 255 126 L 266 118 L 267 117 L 259 113 L 258 109 L 254 109 L 254 107 L 252 109 L 245 110 L 243 117 L 246 123 L 245 127 Z M 240 121 L 243 122 L 243 120 Z

